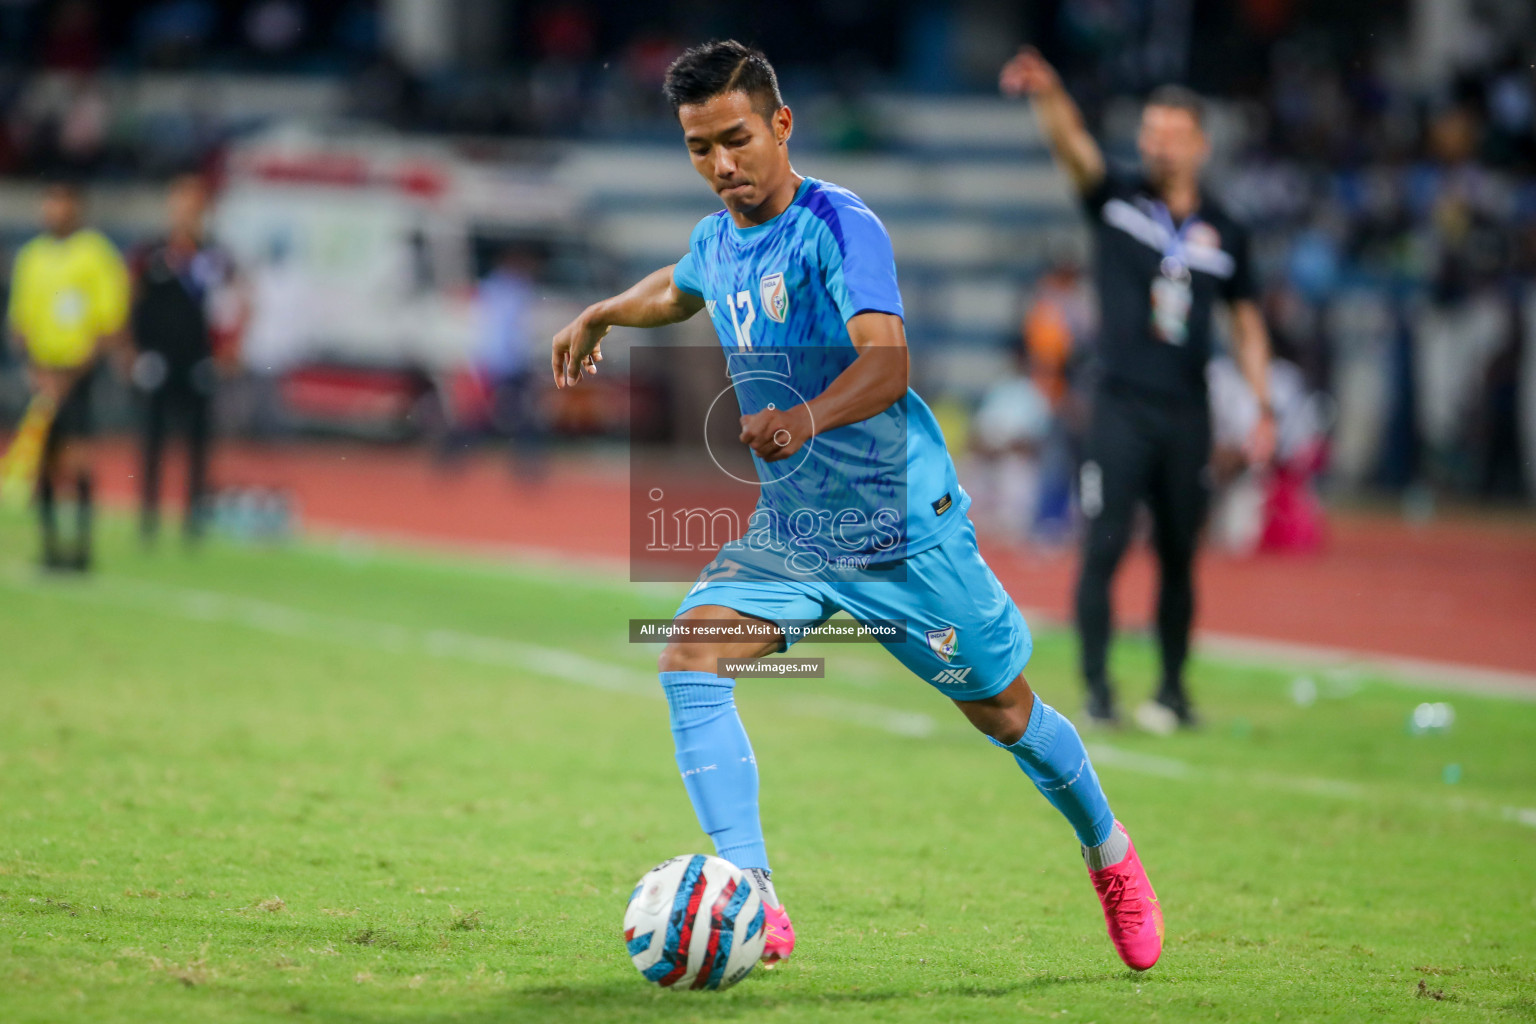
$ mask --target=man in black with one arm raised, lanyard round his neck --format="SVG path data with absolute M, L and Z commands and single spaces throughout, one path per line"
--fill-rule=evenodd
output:
M 1233 355 L 1260 396 L 1249 457 L 1267 462 L 1275 444 L 1269 335 L 1255 302 L 1247 233 L 1200 187 L 1209 144 L 1195 94 L 1175 86 L 1152 94 L 1137 138 L 1143 173 L 1117 175 L 1040 54 L 1021 51 L 1000 84 L 1009 95 L 1031 98 L 1083 197 L 1095 244 L 1101 365 L 1078 481 L 1087 522 L 1077 586 L 1087 714 L 1095 723 L 1117 722 L 1106 671 L 1109 585 L 1137 505 L 1146 502 L 1161 577 L 1163 679 L 1137 722 L 1158 732 L 1192 725 L 1184 660 L 1195 613 L 1195 547 L 1209 497 L 1206 362 L 1218 299 L 1232 312 Z

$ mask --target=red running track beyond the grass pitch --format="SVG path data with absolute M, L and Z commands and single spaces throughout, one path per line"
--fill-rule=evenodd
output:
M 167 494 L 180 488 L 175 468 L 167 473 Z M 131 448 L 109 444 L 103 493 L 129 500 L 132 473 Z M 307 527 L 542 548 L 584 560 L 624 562 L 628 556 L 622 461 L 554 462 L 531 485 L 492 457 L 444 471 L 412 450 L 247 445 L 221 448 L 215 477 L 224 485 L 292 491 Z M 983 550 L 1021 606 L 1069 617 L 1071 553 L 986 542 Z M 1198 579 L 1200 629 L 1536 674 L 1536 520 L 1410 527 L 1382 514 L 1338 514 L 1324 554 L 1206 554 Z M 1150 620 L 1155 580 L 1150 554 L 1134 550 L 1115 588 L 1121 625 Z

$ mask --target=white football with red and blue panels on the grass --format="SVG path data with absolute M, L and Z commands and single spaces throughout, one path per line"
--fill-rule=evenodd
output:
M 630 960 L 664 989 L 730 989 L 751 973 L 766 936 L 762 897 L 719 857 L 673 857 L 645 872 L 624 912 Z

